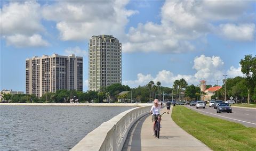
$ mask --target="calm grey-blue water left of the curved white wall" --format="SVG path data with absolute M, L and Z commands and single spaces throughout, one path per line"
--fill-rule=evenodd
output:
M 101 123 L 132 108 L 23 105 L 0 107 L 0 150 L 69 150 Z

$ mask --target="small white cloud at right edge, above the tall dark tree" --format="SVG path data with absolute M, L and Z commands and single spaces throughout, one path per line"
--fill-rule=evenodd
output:
M 230 40 L 252 41 L 254 39 L 255 24 L 220 24 L 221 35 Z

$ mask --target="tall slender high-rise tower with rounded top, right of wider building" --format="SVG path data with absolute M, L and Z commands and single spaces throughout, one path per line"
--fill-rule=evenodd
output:
M 122 82 L 122 44 L 112 35 L 92 36 L 89 43 L 89 90 Z

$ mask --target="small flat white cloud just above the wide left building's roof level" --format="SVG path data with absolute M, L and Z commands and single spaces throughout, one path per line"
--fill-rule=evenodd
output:
M 32 35 L 32 36 L 25 36 L 25 35 L 13 35 L 13 36 L 6 36 L 6 43 L 7 45 L 14 45 L 15 47 L 45 47 L 49 46 L 50 44 L 42 39 L 41 35 Z

